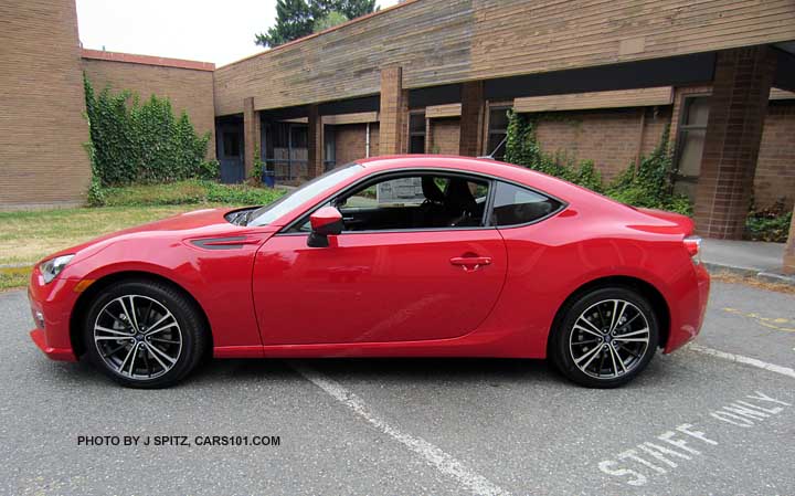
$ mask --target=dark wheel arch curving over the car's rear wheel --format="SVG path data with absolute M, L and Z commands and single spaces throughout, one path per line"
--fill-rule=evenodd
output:
M 658 347 L 664 348 L 666 344 L 668 342 L 668 338 L 670 337 L 670 326 L 671 326 L 671 316 L 670 316 L 670 306 L 668 305 L 668 302 L 666 300 L 665 296 L 662 296 L 662 293 L 651 283 L 648 281 L 644 281 L 639 277 L 634 276 L 626 276 L 626 275 L 613 275 L 613 276 L 604 276 L 598 277 L 592 281 L 589 281 L 585 284 L 582 284 L 580 287 L 574 289 L 572 294 L 570 294 L 563 303 L 558 307 L 558 310 L 555 312 L 554 319 L 552 320 L 552 327 L 550 329 L 550 333 L 554 333 L 558 327 L 560 326 L 561 320 L 564 317 L 564 309 L 568 307 L 568 305 L 577 298 L 580 295 L 591 292 L 593 289 L 598 289 L 602 287 L 628 287 L 630 289 L 637 291 L 640 295 L 646 297 L 649 303 L 651 304 L 651 307 L 655 309 L 657 319 L 659 320 L 659 342 Z M 547 356 L 550 353 L 550 347 L 552 346 L 553 339 L 551 337 L 547 339 Z

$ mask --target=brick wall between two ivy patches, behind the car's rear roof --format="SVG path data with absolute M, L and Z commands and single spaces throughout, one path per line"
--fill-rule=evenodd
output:
M 537 136 L 544 151 L 593 160 L 603 179 L 611 181 L 637 157 L 642 112 L 646 116 L 640 152 L 648 154 L 670 123 L 670 107 L 559 112 L 541 120 Z

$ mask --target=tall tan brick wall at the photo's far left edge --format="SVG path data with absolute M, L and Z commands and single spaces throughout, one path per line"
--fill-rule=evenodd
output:
M 82 202 L 91 166 L 74 2 L 0 2 L 0 208 Z

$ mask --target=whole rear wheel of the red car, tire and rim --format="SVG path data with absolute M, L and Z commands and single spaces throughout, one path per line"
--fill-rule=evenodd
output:
M 569 302 L 560 315 L 550 358 L 563 376 L 579 384 L 626 384 L 657 351 L 657 316 L 648 300 L 632 288 L 587 292 Z

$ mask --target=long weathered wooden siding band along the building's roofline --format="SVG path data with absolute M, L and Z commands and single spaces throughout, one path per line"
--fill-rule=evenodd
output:
M 220 67 L 215 110 L 375 94 L 395 63 L 418 88 L 787 40 L 793 0 L 416 0 Z

